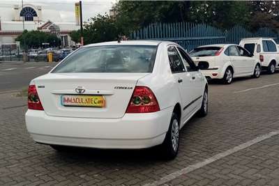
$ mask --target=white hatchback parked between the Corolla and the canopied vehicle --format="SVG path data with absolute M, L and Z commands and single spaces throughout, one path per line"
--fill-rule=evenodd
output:
M 190 56 L 207 79 L 222 79 L 224 84 L 231 84 L 234 77 L 261 74 L 259 61 L 239 45 L 205 45 L 193 49 Z

